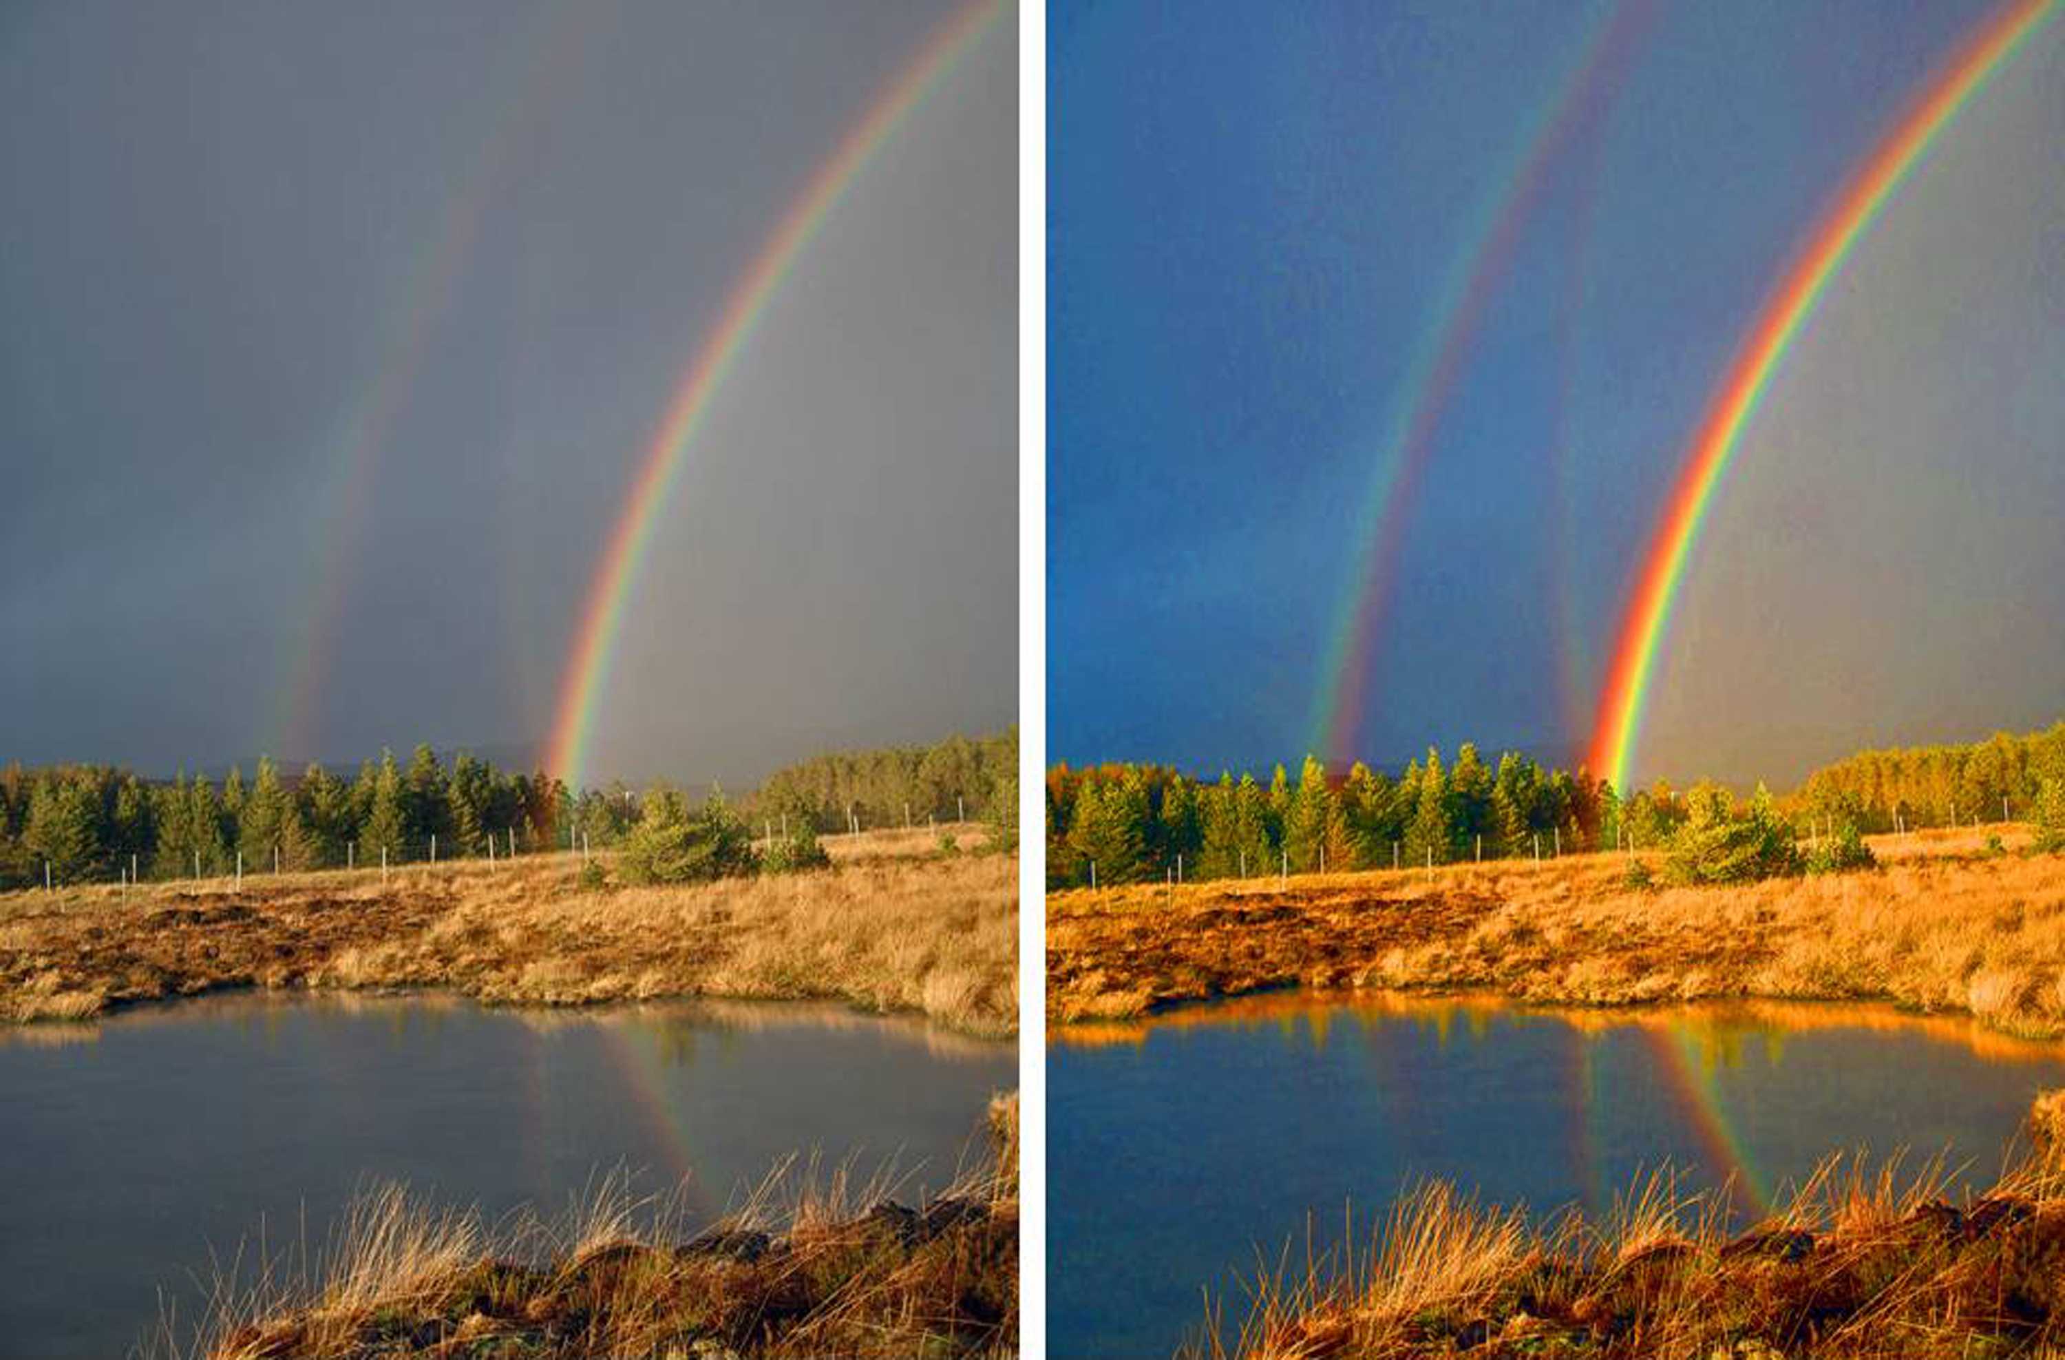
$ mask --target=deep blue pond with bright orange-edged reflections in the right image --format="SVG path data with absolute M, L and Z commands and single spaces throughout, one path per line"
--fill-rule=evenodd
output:
M 1258 1253 L 1303 1259 L 1398 1193 L 1611 1207 L 1669 1164 L 1753 1213 L 1832 1151 L 1945 1153 L 1991 1182 L 2065 1046 L 1877 1007 L 1524 1011 L 1487 1000 L 1272 994 L 1138 1025 L 1070 1025 L 1047 1054 L 1053 1356 L 1167 1356 L 1231 1335 Z

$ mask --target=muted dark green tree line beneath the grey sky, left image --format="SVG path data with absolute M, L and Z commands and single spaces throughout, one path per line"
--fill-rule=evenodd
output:
M 233 872 L 240 856 L 246 872 L 264 872 L 275 864 L 310 870 L 603 849 L 624 843 L 655 798 L 669 827 L 684 818 L 723 823 L 727 845 L 735 839 L 731 821 L 758 829 L 781 818 L 783 837 L 770 854 L 807 868 L 822 862 L 809 833 L 845 831 L 849 808 L 880 827 L 900 818 L 904 802 L 923 821 L 962 808 L 993 816 L 1002 800 L 1016 818 L 1018 734 L 818 756 L 776 771 L 737 808 L 719 794 L 712 802 L 723 814 L 690 814 L 686 796 L 667 783 L 644 794 L 624 783 L 576 794 L 545 771 L 512 773 L 467 752 L 442 761 L 427 744 L 407 765 L 384 750 L 351 779 L 322 765 L 287 775 L 271 759 L 258 761 L 250 783 L 242 769 L 217 783 L 184 771 L 147 781 L 112 765 L 14 763 L 0 769 L 0 889 L 41 885 L 45 872 L 52 885 L 112 883 L 130 872 L 215 876 Z

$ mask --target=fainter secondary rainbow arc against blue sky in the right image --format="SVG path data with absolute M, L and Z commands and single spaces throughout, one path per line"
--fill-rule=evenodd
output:
M 1384 440 L 1357 521 L 1365 529 L 1348 577 L 1348 606 L 1334 628 L 1328 663 L 1322 670 L 1328 682 L 1317 694 L 1311 723 L 1313 746 L 1326 759 L 1348 756 L 1355 750 L 1377 622 L 1390 595 L 1398 537 L 1404 531 L 1404 511 L 1441 415 L 1462 380 L 1485 310 L 1512 265 L 1522 227 L 1555 184 L 1549 172 L 1557 155 L 1580 130 L 1596 126 L 1613 91 L 1609 74 L 1625 66 L 1652 17 L 1652 0 L 1625 0 L 1611 19 L 1594 23 L 1534 130 L 1520 143 L 1505 174 L 1495 180 L 1497 192 L 1487 198 L 1476 227 L 1464 236 L 1464 248 L 1450 267 L 1435 308 L 1439 320 L 1406 368 L 1404 391 L 1410 397 Z

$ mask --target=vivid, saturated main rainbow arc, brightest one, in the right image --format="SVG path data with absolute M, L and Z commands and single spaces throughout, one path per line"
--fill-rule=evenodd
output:
M 1873 149 L 1821 215 L 1807 246 L 1794 256 L 1778 289 L 1757 312 L 1706 415 L 1685 469 L 1664 504 L 1635 591 L 1621 622 L 1592 732 L 1590 767 L 1617 790 L 1629 787 L 1635 740 L 1654 682 L 1656 653 L 1671 628 L 1677 593 L 1685 581 L 1699 527 L 1714 504 L 1714 488 L 1735 455 L 1743 428 L 1755 415 L 1772 374 L 1813 314 L 1830 279 L 1856 248 L 1865 229 L 1987 79 L 2007 62 L 2055 10 L 2057 0 L 2009 0 L 1960 43 L 1923 87 L 1914 103 Z

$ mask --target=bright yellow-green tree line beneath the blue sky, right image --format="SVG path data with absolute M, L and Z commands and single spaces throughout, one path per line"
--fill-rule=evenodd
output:
M 1047 771 L 1047 885 L 1237 878 L 1406 868 L 1466 860 L 1671 849 L 1666 876 L 1724 883 L 1869 864 L 1863 833 L 1968 825 L 2001 814 L 2065 847 L 2065 721 L 1972 746 L 1867 750 L 1817 769 L 1788 798 L 1737 800 L 1716 783 L 1679 794 L 1658 779 L 1621 798 L 1584 769 L 1520 752 L 1487 763 L 1464 742 L 1452 763 L 1427 748 L 1402 775 L 1357 763 L 1344 777 L 1307 756 L 1297 779 L 1220 773 L 1198 781 L 1161 765 Z M 1809 841 L 1803 852 L 1799 841 Z M 1092 868 L 1094 866 L 1094 868 Z

